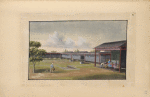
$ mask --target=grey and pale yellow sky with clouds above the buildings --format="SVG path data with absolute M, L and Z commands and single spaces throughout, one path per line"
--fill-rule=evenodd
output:
M 30 41 L 47 52 L 92 51 L 94 47 L 126 40 L 127 21 L 30 21 Z

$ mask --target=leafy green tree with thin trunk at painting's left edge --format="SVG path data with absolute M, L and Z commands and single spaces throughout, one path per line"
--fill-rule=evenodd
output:
M 38 49 L 40 46 L 40 42 L 30 41 L 29 43 L 29 61 L 33 63 L 33 73 L 35 72 L 35 64 L 42 61 L 42 56 L 46 54 L 44 49 Z

